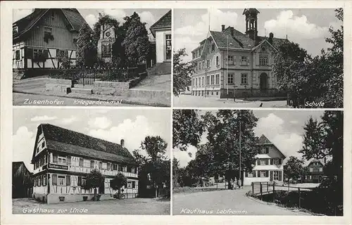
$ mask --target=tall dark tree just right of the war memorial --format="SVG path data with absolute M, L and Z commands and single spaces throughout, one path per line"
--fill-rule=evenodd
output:
M 146 23 L 141 22 L 141 18 L 136 12 L 125 17 L 124 20 L 125 23 L 122 27 L 125 39 L 122 41 L 122 46 L 125 48 L 125 56 L 130 65 L 145 63 L 151 49 Z

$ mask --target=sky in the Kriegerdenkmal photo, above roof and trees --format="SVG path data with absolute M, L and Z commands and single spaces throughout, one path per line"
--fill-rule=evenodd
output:
M 146 23 L 146 30 L 149 32 L 149 37 L 152 37 L 149 27 L 156 23 L 156 21 L 158 21 L 163 15 L 168 13 L 168 11 L 170 11 L 170 8 L 77 8 L 77 10 L 81 13 L 83 18 L 91 27 L 93 27 L 94 23 L 96 23 L 99 19 L 99 13 L 111 15 L 113 18 L 116 18 L 118 22 L 123 23 L 123 18 L 125 16 L 130 16 L 134 12 L 137 12 L 142 22 Z M 20 18 L 23 18 L 26 15 L 29 15 L 30 13 L 32 13 L 32 8 L 13 10 L 13 22 L 20 20 Z

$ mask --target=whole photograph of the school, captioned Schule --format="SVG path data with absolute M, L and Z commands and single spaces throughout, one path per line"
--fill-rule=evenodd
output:
M 173 106 L 344 108 L 343 8 L 175 8 Z

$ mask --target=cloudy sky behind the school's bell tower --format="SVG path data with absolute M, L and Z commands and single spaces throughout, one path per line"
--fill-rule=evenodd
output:
M 191 59 L 191 51 L 206 38 L 209 30 L 221 31 L 221 25 L 232 26 L 244 33 L 246 29 L 244 9 L 176 9 L 174 10 L 175 51 L 186 48 Z M 334 8 L 258 8 L 258 35 L 286 38 L 298 43 L 312 56 L 320 54 L 329 44 L 329 27 L 339 28 L 341 23 L 335 18 Z M 177 19 L 176 19 L 177 18 Z

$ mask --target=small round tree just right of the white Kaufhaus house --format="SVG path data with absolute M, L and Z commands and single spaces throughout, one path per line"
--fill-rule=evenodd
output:
M 284 176 L 287 177 L 287 179 L 293 179 L 294 181 L 302 178 L 306 173 L 303 163 L 303 160 L 300 160 L 295 156 L 290 156 L 285 165 Z

